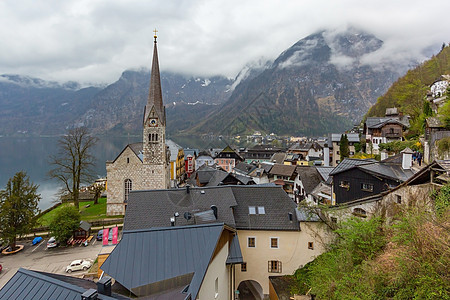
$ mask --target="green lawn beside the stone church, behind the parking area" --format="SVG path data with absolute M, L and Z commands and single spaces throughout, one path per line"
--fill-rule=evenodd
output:
M 42 215 L 38 219 L 40 226 L 48 226 L 53 219 L 55 213 L 65 205 L 72 205 L 71 203 L 63 203 L 57 208 Z M 86 207 L 89 205 L 89 207 Z M 107 218 L 121 218 L 123 216 L 107 216 L 106 215 L 106 198 L 100 198 L 98 204 L 94 205 L 94 201 L 80 202 L 80 215 L 83 221 L 101 220 Z

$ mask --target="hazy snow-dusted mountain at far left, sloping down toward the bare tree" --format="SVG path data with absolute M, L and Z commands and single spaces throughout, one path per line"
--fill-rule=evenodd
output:
M 0 76 L 0 135 L 63 133 L 101 89 L 38 78 Z

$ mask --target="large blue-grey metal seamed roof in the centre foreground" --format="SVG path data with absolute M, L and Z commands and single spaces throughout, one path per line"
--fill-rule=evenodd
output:
M 223 227 L 216 223 L 124 231 L 101 269 L 138 296 L 150 294 L 154 283 L 192 276 L 186 298 L 196 299 Z

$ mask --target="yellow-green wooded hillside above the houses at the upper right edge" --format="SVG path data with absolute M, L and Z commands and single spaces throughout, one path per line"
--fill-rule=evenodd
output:
M 367 113 L 368 117 L 382 117 L 388 107 L 398 107 L 416 119 L 421 113 L 429 86 L 443 74 L 450 74 L 450 46 L 399 78 L 378 98 Z

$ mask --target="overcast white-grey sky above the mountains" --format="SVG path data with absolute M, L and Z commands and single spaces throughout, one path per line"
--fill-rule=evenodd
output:
M 383 40 L 380 55 L 425 59 L 450 41 L 450 1 L 2 0 L 0 74 L 112 83 L 149 68 L 235 77 L 321 29 L 353 26 Z

